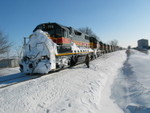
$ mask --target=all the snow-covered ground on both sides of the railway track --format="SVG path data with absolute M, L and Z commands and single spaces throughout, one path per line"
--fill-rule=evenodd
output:
M 1 88 L 0 113 L 150 113 L 149 64 L 150 55 L 117 51 L 90 68 L 81 64 Z M 13 76 L 23 74 L 0 69 L 0 81 Z

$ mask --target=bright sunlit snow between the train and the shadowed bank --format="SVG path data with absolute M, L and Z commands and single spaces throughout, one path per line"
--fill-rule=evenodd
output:
M 109 87 L 125 59 L 125 51 L 117 51 L 91 61 L 89 69 L 82 64 L 0 89 L 0 112 L 100 113 L 108 111 L 108 108 L 114 105 L 110 99 L 107 99 L 111 94 Z M 113 111 L 119 113 L 120 110 L 115 106 L 109 109 L 109 112 Z

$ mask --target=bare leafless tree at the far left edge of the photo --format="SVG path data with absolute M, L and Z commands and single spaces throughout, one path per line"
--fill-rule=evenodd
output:
M 10 47 L 7 36 L 0 31 L 0 54 L 8 52 Z

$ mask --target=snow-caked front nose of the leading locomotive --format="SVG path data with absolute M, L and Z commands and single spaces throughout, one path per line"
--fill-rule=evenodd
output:
M 20 70 L 24 73 L 48 73 L 56 68 L 56 44 L 46 32 L 34 32 L 24 49 Z

